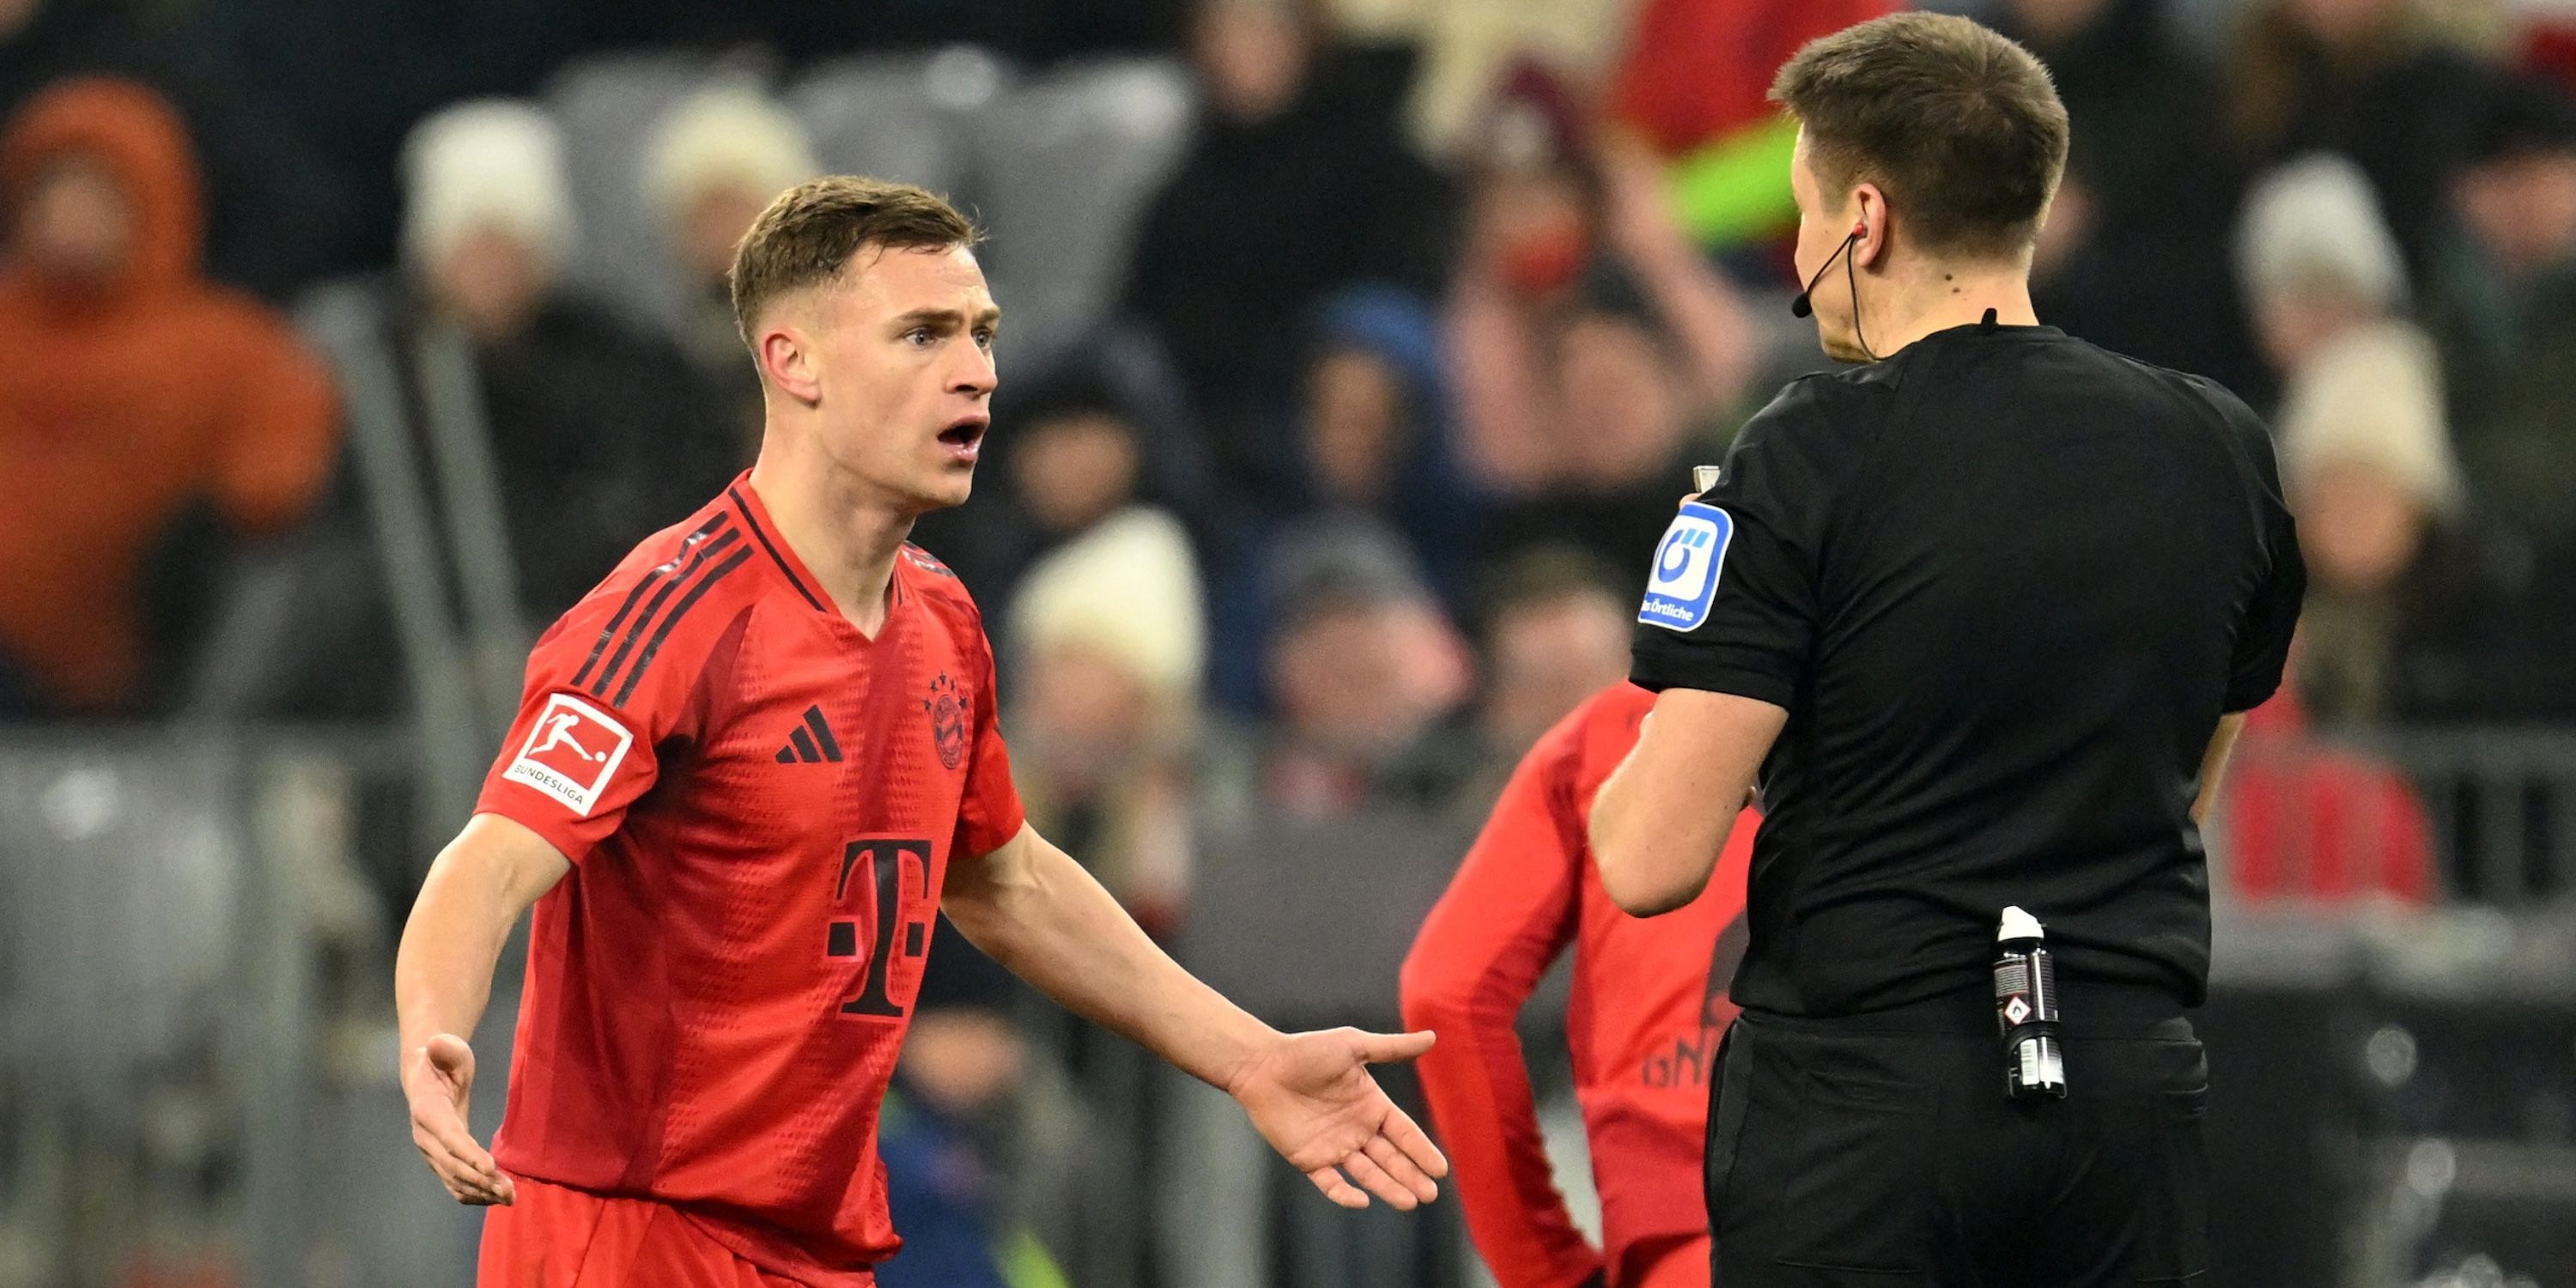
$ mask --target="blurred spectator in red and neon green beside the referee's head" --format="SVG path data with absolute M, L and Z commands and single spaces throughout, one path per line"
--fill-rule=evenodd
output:
M 1692 240 L 1731 245 L 1798 222 L 1788 152 L 1798 129 L 1770 82 L 1801 44 L 1891 13 L 1896 0 L 1643 0 L 1610 88 L 1610 118 L 1672 160 Z

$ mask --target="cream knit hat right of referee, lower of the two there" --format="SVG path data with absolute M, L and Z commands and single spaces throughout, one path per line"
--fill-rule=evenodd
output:
M 2293 489 L 2324 466 L 2357 464 L 2401 482 L 2437 513 L 2460 505 L 2442 366 L 2432 340 L 2403 322 L 2352 327 L 2290 374 L 2280 448 Z

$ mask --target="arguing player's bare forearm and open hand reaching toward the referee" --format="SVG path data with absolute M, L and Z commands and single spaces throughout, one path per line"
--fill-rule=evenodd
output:
M 940 909 L 1056 1002 L 1239 1100 L 1324 1198 L 1345 1208 L 1365 1208 L 1368 1193 L 1396 1208 L 1437 1198 L 1432 1177 L 1448 1175 L 1448 1159 L 1368 1077 L 1368 1064 L 1430 1051 L 1430 1033 L 1280 1033 L 1260 1023 L 1182 971 L 1033 827 L 953 860 Z

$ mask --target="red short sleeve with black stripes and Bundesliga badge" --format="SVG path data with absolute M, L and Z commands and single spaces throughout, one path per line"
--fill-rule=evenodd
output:
M 641 657 L 616 623 L 621 592 L 595 590 L 528 652 L 518 716 L 484 775 L 477 814 L 500 814 L 580 863 L 659 775 L 657 747 L 685 716 L 696 667 Z M 618 662 L 618 683 L 603 683 Z M 644 665 L 636 685 L 623 675 Z

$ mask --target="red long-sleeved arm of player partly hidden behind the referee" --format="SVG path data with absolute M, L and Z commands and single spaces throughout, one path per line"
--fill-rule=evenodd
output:
M 1553 1185 L 1515 1030 L 1574 935 L 1582 889 L 1582 819 L 1556 791 L 1574 757 L 1556 742 L 1512 773 L 1404 958 L 1404 1023 L 1443 1038 L 1417 1066 L 1422 1095 L 1458 1157 L 1466 1229 L 1504 1288 L 1571 1288 L 1602 1273 Z

